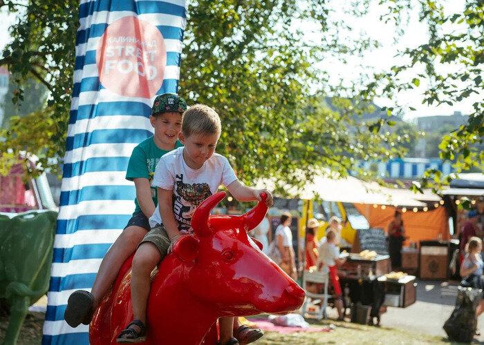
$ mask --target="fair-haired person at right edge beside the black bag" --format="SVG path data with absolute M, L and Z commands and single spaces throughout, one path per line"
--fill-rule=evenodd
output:
M 484 291 L 482 248 L 483 242 L 479 237 L 471 237 L 465 245 L 466 254 L 460 265 L 460 275 L 463 280 L 460 284 L 466 288 L 481 288 Z M 476 308 L 477 317 L 484 312 L 484 292 L 482 297 Z

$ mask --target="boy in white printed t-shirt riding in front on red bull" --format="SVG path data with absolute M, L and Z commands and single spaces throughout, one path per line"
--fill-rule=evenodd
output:
M 229 162 L 214 153 L 221 135 L 221 121 L 212 108 L 197 104 L 183 115 L 179 139 L 184 147 L 162 156 L 156 166 L 153 185 L 158 188 L 158 206 L 149 219 L 151 230 L 138 246 L 131 272 L 131 299 L 134 320 L 117 342 L 143 342 L 146 337 L 146 308 L 150 274 L 171 251 L 180 237 L 189 234 L 192 216 L 203 200 L 223 185 L 239 201 L 261 201 L 272 206 L 268 190 L 244 186 Z M 221 344 L 239 344 L 232 336 L 234 317 L 220 319 Z

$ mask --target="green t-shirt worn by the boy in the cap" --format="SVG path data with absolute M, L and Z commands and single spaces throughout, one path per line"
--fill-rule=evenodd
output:
M 175 148 L 183 146 L 180 141 L 176 141 Z M 153 186 L 153 175 L 155 175 L 155 168 L 160 157 L 168 153 L 169 151 L 162 150 L 156 146 L 153 141 L 153 137 L 145 139 L 133 148 L 131 157 L 129 158 L 128 168 L 126 170 L 126 179 L 133 181 L 137 177 L 143 177 L 149 180 L 151 185 L 151 197 L 155 206 L 158 205 L 158 193 L 156 191 L 156 186 Z M 134 199 L 134 204 L 136 206 L 133 215 L 141 211 L 140 204 L 138 204 L 138 199 Z

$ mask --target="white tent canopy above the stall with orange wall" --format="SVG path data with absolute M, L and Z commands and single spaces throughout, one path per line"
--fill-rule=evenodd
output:
M 332 176 L 328 176 L 332 175 Z M 274 188 L 273 181 L 263 180 L 259 187 Z M 389 206 L 422 207 L 422 201 L 439 201 L 440 197 L 432 193 L 416 194 L 411 190 L 382 187 L 376 182 L 365 182 L 355 177 L 337 178 L 335 174 L 324 174 L 315 177 L 313 183 L 304 188 L 284 188 L 292 197 L 301 199 L 320 198 L 325 201 L 341 201 L 353 204 L 377 204 Z

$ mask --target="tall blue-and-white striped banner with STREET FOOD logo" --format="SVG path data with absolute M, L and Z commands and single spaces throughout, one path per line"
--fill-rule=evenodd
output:
M 89 344 L 64 321 L 68 296 L 90 290 L 134 210 L 131 151 L 153 134 L 156 95 L 176 93 L 185 0 L 81 0 L 64 175 L 42 344 Z

